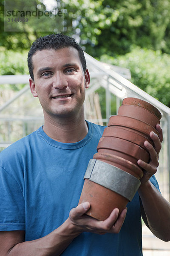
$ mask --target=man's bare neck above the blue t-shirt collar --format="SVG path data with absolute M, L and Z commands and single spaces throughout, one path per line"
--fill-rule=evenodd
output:
M 75 143 L 87 135 L 88 124 L 84 116 L 78 119 L 45 119 L 43 130 L 53 140 L 62 143 Z

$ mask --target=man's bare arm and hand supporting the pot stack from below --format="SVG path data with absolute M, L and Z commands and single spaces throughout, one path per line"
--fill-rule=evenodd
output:
M 0 231 L 0 256 L 59 256 L 82 232 L 119 233 L 127 209 L 118 217 L 114 209 L 105 221 L 85 215 L 90 204 L 85 202 L 71 209 L 69 218 L 56 230 L 40 239 L 24 241 L 24 231 Z

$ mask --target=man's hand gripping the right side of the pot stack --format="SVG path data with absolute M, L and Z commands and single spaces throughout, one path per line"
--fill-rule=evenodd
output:
M 161 150 L 161 142 L 163 141 L 162 129 L 159 124 L 156 125 L 156 129 L 159 132 L 159 137 L 153 132 L 150 132 L 150 138 L 153 140 L 154 146 L 152 146 L 147 140 L 144 142 L 144 146 L 147 148 L 150 154 L 150 162 L 145 163 L 142 160 L 138 160 L 139 166 L 144 169 L 144 176 L 141 179 L 141 183 L 146 183 L 152 175 L 157 171 L 159 166 L 159 152 Z

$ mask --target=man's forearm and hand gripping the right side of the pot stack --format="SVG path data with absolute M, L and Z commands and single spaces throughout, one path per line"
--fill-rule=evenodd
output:
M 159 137 L 153 132 L 150 133 L 154 147 L 147 141 L 144 143 L 150 152 L 150 163 L 147 164 L 138 160 L 138 164 L 144 169 L 142 184 L 138 192 L 142 200 L 141 213 L 145 224 L 159 239 L 170 241 L 170 204 L 149 180 L 157 171 L 159 165 L 158 154 L 163 140 L 160 125 L 156 125 L 156 128 L 159 131 Z

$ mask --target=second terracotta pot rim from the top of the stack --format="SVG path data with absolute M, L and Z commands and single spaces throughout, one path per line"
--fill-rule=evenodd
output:
M 122 111 L 127 111 L 128 109 L 130 109 L 131 111 L 134 111 L 134 113 L 139 111 L 142 111 L 144 114 L 146 114 L 146 116 L 144 115 L 145 119 L 147 118 L 147 120 L 151 120 L 153 123 L 156 124 L 160 124 L 160 120 L 159 118 L 152 112 L 150 112 L 149 110 L 145 109 L 145 108 L 141 108 L 139 106 L 136 105 L 122 105 L 119 107 L 119 111 L 118 111 L 118 115 L 121 116 L 119 113 Z M 128 112 L 128 111 L 127 111 Z M 126 116 L 125 114 L 123 114 L 123 116 Z M 140 116 L 140 114 L 139 114 Z M 150 117 L 150 118 L 149 118 Z M 148 123 L 150 124 L 150 123 Z

